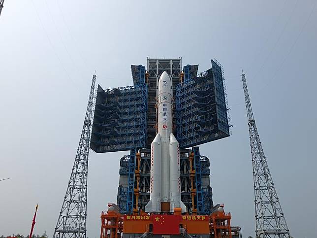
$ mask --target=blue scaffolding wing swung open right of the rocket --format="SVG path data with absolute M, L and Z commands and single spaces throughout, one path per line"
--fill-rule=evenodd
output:
M 176 85 L 176 130 L 181 148 L 229 136 L 221 67 Z

